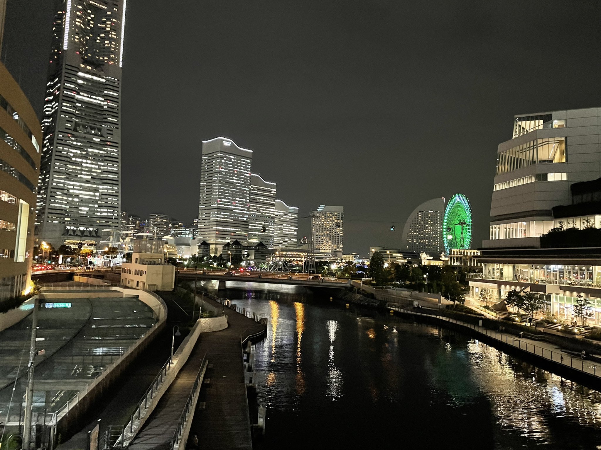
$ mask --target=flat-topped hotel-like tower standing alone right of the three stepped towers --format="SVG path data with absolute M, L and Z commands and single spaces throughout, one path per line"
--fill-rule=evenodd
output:
M 311 243 L 315 253 L 343 251 L 343 206 L 320 205 L 311 212 Z

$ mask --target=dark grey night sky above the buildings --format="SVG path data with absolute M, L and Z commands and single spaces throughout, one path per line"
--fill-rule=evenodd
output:
M 301 217 L 343 205 L 346 251 L 400 246 L 413 208 L 456 192 L 478 246 L 513 116 L 601 106 L 597 0 L 127 8 L 121 196 L 142 216 L 191 221 L 201 141 L 225 136 Z M 40 113 L 52 14 L 50 0 L 8 0 L 2 58 Z

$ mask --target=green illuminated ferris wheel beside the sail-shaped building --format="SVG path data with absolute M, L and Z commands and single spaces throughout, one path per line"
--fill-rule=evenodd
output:
M 465 249 L 472 245 L 472 207 L 463 194 L 455 194 L 447 203 L 442 221 L 442 241 L 447 254 L 451 248 Z

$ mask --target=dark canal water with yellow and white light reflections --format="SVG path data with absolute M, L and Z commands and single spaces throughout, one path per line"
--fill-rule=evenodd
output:
M 269 318 L 254 348 L 260 449 L 601 448 L 601 393 L 468 335 L 302 287 L 218 295 Z

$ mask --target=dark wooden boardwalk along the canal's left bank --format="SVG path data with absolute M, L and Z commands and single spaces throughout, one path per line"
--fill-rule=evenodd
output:
M 160 293 L 167 301 L 171 293 Z M 215 307 L 222 305 L 204 298 Z M 188 362 L 172 385 L 163 394 L 157 408 L 132 445 L 132 450 L 165 450 L 169 448 L 175 426 L 188 400 L 202 358 L 207 353 L 209 368 L 198 398 L 204 409 L 198 408 L 192 422 L 191 436 L 197 434 L 199 447 L 204 449 L 252 449 L 251 422 L 246 398 L 240 336 L 254 335 L 264 325 L 236 311 L 225 309 L 228 328 L 203 333 Z M 192 439 L 188 440 L 191 445 Z

